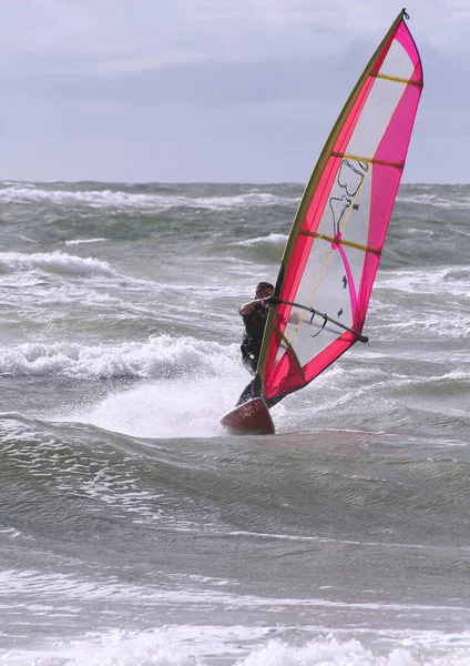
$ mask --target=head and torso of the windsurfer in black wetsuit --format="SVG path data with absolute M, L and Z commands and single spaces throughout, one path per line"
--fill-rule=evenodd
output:
M 267 299 L 274 294 L 274 286 L 270 282 L 259 282 L 256 285 L 255 300 L 242 305 L 238 310 L 243 316 L 245 332 L 242 342 L 242 363 L 248 372 L 256 374 L 259 352 L 266 319 L 269 309 Z

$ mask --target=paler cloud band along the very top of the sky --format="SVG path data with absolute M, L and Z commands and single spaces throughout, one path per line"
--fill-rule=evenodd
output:
M 35 0 L 2 2 L 3 72 L 110 75 L 170 64 L 308 59 L 378 43 L 395 0 Z M 467 0 L 409 7 L 419 42 L 468 60 Z

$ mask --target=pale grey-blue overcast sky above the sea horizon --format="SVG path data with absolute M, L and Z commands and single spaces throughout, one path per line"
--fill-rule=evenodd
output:
M 0 179 L 300 182 L 402 4 L 0 0 Z M 470 0 L 409 0 L 403 182 L 470 182 Z

